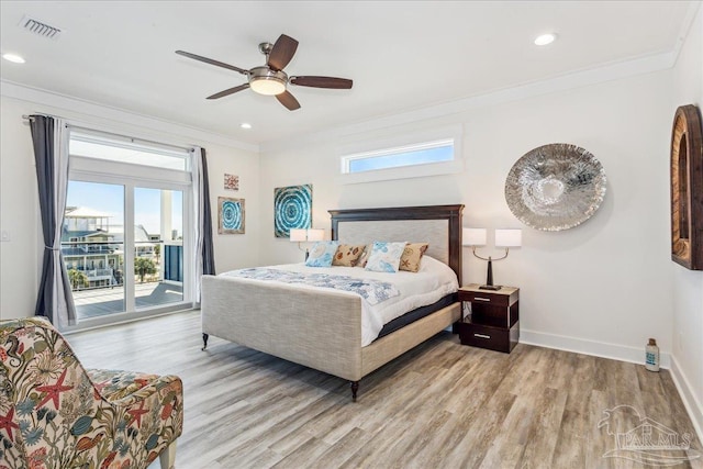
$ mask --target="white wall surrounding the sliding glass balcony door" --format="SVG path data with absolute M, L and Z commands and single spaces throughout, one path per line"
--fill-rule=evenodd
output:
M 0 227 L 10 241 L 0 243 L 0 317 L 34 314 L 41 276 L 43 239 L 30 127 L 22 115 L 34 112 L 64 116 L 103 131 L 207 149 L 217 271 L 256 265 L 259 224 L 258 148 L 217 135 L 127 114 L 83 101 L 2 83 L 0 97 Z M 239 176 L 239 191 L 223 189 L 224 172 Z M 217 235 L 217 197 L 246 200 L 246 234 Z

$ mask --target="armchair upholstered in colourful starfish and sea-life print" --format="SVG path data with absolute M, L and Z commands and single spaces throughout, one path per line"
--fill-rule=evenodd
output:
M 43 317 L 0 321 L 0 469 L 174 466 L 176 376 L 85 369 Z

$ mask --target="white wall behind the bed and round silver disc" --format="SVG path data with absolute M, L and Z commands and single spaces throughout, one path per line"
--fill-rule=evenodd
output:
M 312 183 L 314 225 L 327 230 L 330 209 L 464 203 L 465 226 L 524 230 L 523 247 L 493 266 L 496 282 L 521 287 L 522 340 L 641 362 L 647 338 L 656 337 L 668 358 L 670 83 L 671 72 L 658 71 L 265 148 L 261 264 L 301 258 L 290 243 L 269 235 L 275 187 Z M 335 181 L 338 148 L 349 142 L 457 123 L 465 129 L 462 174 L 349 186 Z M 557 233 L 522 225 L 503 196 L 512 165 L 549 143 L 590 150 L 609 181 L 595 215 Z M 468 249 L 464 255 L 465 283 L 482 282 L 486 263 Z

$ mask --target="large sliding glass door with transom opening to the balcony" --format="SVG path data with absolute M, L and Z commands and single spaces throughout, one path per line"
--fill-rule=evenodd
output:
M 62 254 L 79 327 L 189 308 L 191 152 L 71 130 L 69 155 Z

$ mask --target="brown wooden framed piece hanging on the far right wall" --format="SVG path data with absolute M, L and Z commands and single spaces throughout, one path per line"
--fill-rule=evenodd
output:
M 703 270 L 703 129 L 693 104 L 677 109 L 671 131 L 671 260 Z

